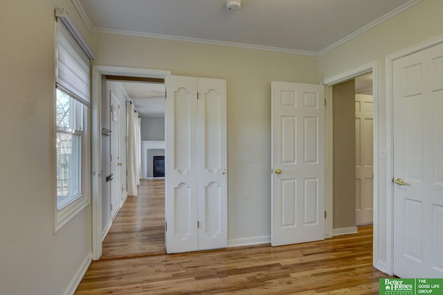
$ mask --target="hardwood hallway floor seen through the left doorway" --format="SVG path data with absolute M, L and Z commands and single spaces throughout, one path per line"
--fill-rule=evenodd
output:
M 165 180 L 142 179 L 102 244 L 100 260 L 165 254 Z

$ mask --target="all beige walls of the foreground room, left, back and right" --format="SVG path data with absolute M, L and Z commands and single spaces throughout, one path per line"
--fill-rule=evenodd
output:
M 378 139 L 386 146 L 385 56 L 443 34 L 441 0 L 423 0 L 320 57 L 89 34 L 69 0 L 3 1 L 0 294 L 63 294 L 91 250 L 90 207 L 53 233 L 56 6 L 67 8 L 93 42 L 96 64 L 170 69 L 177 75 L 227 80 L 230 239 L 271 233 L 271 80 L 317 83 L 376 60 Z M 383 198 L 390 176 L 387 160 L 378 161 L 380 251 L 376 259 L 386 262 Z

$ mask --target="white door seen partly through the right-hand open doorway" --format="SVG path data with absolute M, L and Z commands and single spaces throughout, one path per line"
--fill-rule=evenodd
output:
M 373 212 L 373 98 L 355 95 L 355 219 L 356 225 L 372 223 Z

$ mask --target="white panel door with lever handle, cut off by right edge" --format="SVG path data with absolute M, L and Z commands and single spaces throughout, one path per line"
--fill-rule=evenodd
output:
M 393 66 L 394 274 L 443 278 L 443 45 Z

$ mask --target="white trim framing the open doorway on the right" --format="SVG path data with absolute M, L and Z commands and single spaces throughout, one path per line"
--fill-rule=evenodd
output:
M 372 71 L 372 97 L 374 98 L 374 125 L 372 133 L 372 145 L 373 145 L 373 224 L 374 233 L 372 240 L 372 265 L 377 269 L 384 271 L 386 268 L 384 262 L 379 262 L 379 99 L 378 99 L 378 79 L 377 79 L 377 61 L 369 62 L 368 64 L 363 64 L 344 73 L 335 75 L 331 78 L 325 78 L 322 84 L 326 86 L 325 96 L 326 96 L 326 107 L 325 107 L 325 210 L 326 210 L 326 221 L 325 221 L 325 238 L 332 238 L 333 236 L 333 130 L 332 130 L 332 86 L 351 80 L 369 73 Z M 383 240 L 383 238 L 381 239 Z

